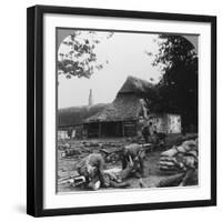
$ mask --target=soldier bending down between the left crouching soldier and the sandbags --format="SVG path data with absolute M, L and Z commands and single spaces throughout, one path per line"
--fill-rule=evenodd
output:
M 123 148 L 122 151 L 122 169 L 130 168 L 129 174 L 135 174 L 141 178 L 144 174 L 144 152 L 139 144 L 130 144 Z M 127 178 L 127 176 L 125 176 Z

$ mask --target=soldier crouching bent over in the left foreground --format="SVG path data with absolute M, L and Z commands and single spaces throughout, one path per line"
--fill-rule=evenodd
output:
M 102 154 L 89 154 L 79 162 L 77 169 L 79 174 L 85 178 L 88 188 L 98 190 L 100 186 L 105 186 L 103 176 L 104 159 Z

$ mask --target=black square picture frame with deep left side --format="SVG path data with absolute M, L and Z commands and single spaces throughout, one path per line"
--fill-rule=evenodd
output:
M 211 26 L 211 199 L 180 202 L 43 209 L 43 14 L 209 22 Z M 51 216 L 216 205 L 216 17 L 34 6 L 27 10 L 27 213 Z

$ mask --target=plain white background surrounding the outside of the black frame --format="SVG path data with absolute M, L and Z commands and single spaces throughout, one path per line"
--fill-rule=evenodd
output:
M 154 222 L 191 222 L 220 221 L 222 218 L 222 161 L 218 161 L 219 173 L 219 206 L 194 208 L 164 211 L 142 211 L 130 213 L 94 214 L 78 216 L 57 216 L 33 219 L 26 215 L 26 8 L 32 4 L 60 4 L 72 7 L 94 7 L 128 10 L 163 11 L 178 13 L 218 14 L 219 36 L 222 39 L 222 7 L 220 0 L 178 1 L 178 0 L 7 0 L 1 2 L 0 43 L 1 43 L 1 81 L 0 81 L 0 134 L 1 134 L 1 183 L 0 183 L 0 220 L 2 222 L 33 221 L 75 221 L 75 222 L 118 222 L 118 221 L 154 221 Z M 221 49 L 221 41 L 218 49 Z M 218 61 L 222 60 L 222 50 L 218 50 Z M 222 73 L 219 63 L 218 73 Z M 14 71 L 16 70 L 16 71 Z M 222 113 L 222 74 L 218 75 L 220 95 L 219 112 Z M 18 127 L 11 137 L 11 124 Z M 219 150 L 218 159 L 222 157 L 222 115 L 219 115 Z M 28 133 L 29 137 L 29 133 Z M 13 154 L 6 152 L 10 148 Z

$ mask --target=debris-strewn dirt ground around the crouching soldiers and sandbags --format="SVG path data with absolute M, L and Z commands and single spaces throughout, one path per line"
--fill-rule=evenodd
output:
M 173 135 L 168 137 L 168 141 L 165 144 L 172 144 L 174 141 L 178 140 L 178 138 L 181 135 Z M 186 137 L 193 137 L 192 134 Z M 100 152 L 100 144 L 103 145 L 103 148 L 107 148 L 111 153 L 117 151 L 118 149 L 121 149 L 125 144 L 132 143 L 132 141 L 128 141 L 125 139 L 103 139 L 103 140 L 87 140 L 87 141 L 80 141 L 80 140 L 68 140 L 68 141 L 59 141 L 58 145 L 69 143 L 71 148 L 73 148 L 77 151 L 77 154 L 70 157 L 70 158 L 62 158 L 62 149 L 58 150 L 58 181 L 67 178 L 67 176 L 73 176 L 78 175 L 77 173 L 77 163 L 88 154 L 92 152 Z M 164 148 L 169 149 L 169 147 Z M 163 150 L 154 149 L 152 151 L 147 152 L 144 158 L 144 178 L 142 178 L 143 188 L 154 188 L 160 182 L 160 180 L 168 178 L 169 174 L 165 174 L 159 170 L 158 163 L 160 159 L 160 154 L 163 152 Z M 105 169 L 111 168 L 121 168 L 120 161 L 115 163 L 105 163 Z M 58 182 L 57 181 L 57 182 Z M 140 186 L 140 179 L 137 178 L 130 178 L 125 180 L 127 182 L 130 182 L 130 186 L 128 189 L 141 189 Z M 68 184 L 59 184 L 57 183 L 57 191 L 58 192 L 74 192 L 79 191 L 79 188 L 72 188 Z

